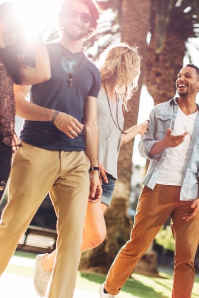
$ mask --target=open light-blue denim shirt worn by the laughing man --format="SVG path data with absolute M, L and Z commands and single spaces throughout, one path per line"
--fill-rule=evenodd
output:
M 198 108 L 199 105 L 197 104 Z M 173 131 L 178 111 L 176 98 L 156 105 L 150 113 L 150 123 L 146 134 L 140 140 L 138 148 L 140 155 L 150 160 L 148 171 L 142 183 L 154 189 L 159 176 L 159 171 L 169 148 L 150 155 L 149 152 L 156 142 L 165 138 L 167 129 Z M 183 169 L 180 200 L 189 201 L 199 198 L 199 112 L 195 121 L 195 127 L 189 148 L 186 163 Z

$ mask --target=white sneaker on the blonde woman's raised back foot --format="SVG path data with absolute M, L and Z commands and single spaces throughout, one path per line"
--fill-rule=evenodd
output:
M 45 297 L 48 281 L 52 275 L 51 271 L 44 271 L 42 268 L 42 261 L 46 254 L 39 254 L 35 259 L 33 284 L 35 292 L 39 297 Z

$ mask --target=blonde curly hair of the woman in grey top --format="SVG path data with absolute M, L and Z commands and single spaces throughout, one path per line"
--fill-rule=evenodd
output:
M 101 81 L 114 85 L 125 110 L 128 110 L 127 101 L 138 88 L 140 61 L 137 47 L 124 42 L 110 45 L 97 59 Z

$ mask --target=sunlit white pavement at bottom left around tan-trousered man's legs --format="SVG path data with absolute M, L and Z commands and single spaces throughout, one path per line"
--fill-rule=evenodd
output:
M 3 273 L 0 278 L 0 298 L 38 298 L 32 278 L 17 275 L 17 267 L 34 267 L 34 260 L 13 256 L 8 266 L 16 266 L 16 274 Z M 75 290 L 74 298 L 99 298 L 98 294 Z

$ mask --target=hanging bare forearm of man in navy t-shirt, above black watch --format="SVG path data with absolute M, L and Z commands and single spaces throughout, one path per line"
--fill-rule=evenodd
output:
M 99 148 L 99 133 L 97 125 L 85 124 L 84 127 L 85 153 L 89 157 L 91 166 L 99 166 L 98 148 Z

